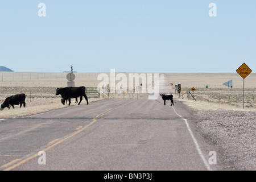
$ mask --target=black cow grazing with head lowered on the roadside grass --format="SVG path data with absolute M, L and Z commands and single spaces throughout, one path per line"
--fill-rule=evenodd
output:
M 5 109 L 5 107 L 8 107 L 10 109 L 11 106 L 13 106 L 13 109 L 14 109 L 14 105 L 20 105 L 20 107 L 21 107 L 22 104 L 24 107 L 26 107 L 25 98 L 26 98 L 26 95 L 24 93 L 20 93 L 20 94 L 14 95 L 14 96 L 7 97 L 5 99 L 5 102 L 3 102 L 3 104 L 1 105 L 0 110 Z

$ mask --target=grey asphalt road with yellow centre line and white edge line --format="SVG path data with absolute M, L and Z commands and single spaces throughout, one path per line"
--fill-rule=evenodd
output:
M 0 121 L 1 170 L 215 170 L 193 110 L 106 99 Z M 45 151 L 40 158 L 39 151 Z M 40 161 L 46 164 L 39 164 Z

